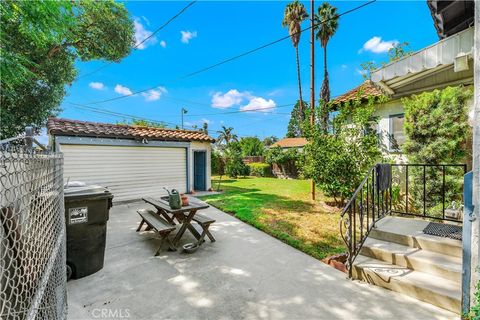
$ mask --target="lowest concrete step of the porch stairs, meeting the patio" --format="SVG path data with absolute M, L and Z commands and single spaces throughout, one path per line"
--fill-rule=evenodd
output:
M 352 271 L 356 279 L 460 313 L 461 286 L 457 281 L 363 255 L 357 256 Z

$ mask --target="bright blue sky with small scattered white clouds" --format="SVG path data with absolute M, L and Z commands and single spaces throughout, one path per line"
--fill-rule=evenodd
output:
M 143 39 L 188 2 L 126 2 L 135 19 L 138 39 Z M 210 132 L 222 125 L 239 136 L 261 138 L 286 133 L 291 106 L 298 99 L 295 51 L 286 40 L 274 46 L 211 69 L 196 76 L 185 74 L 225 58 L 276 40 L 287 34 L 281 20 L 287 2 L 199 1 L 179 18 L 124 58 L 100 71 L 101 61 L 77 63 L 80 78 L 69 87 L 60 116 L 70 119 L 112 122 L 122 117 L 74 107 L 67 102 L 91 105 L 171 124 L 180 124 L 186 108 L 187 128 L 209 123 Z M 317 6 L 321 2 L 317 1 Z M 339 12 L 360 1 L 333 1 Z M 309 9 L 309 2 L 304 2 Z M 308 27 L 309 21 L 303 27 Z M 408 41 L 414 50 L 438 41 L 425 1 L 377 1 L 340 18 L 339 29 L 328 45 L 328 69 L 332 96 L 362 82 L 360 64 L 387 60 L 386 50 L 395 41 Z M 363 48 L 363 49 L 362 49 Z M 309 34 L 300 43 L 304 99 L 309 100 Z M 86 75 L 86 76 L 82 76 Z M 323 52 L 316 44 L 316 95 L 323 78 Z M 153 91 L 115 101 L 155 87 Z M 263 112 L 237 112 L 265 108 Z M 230 112 L 230 113 L 227 113 Z M 126 119 L 126 118 L 124 118 Z

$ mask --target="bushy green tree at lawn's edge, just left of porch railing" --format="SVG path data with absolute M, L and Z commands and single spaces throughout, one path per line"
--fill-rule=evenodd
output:
M 358 99 L 339 106 L 335 132 L 325 134 L 315 128 L 298 161 L 302 175 L 313 179 L 337 205 L 345 204 L 367 171 L 382 159 L 378 137 L 371 130 L 377 120 L 374 104 L 371 98 L 365 105 Z

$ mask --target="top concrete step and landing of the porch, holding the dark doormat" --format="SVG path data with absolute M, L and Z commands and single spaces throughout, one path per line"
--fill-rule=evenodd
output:
M 424 234 L 428 223 L 421 219 L 385 217 L 376 223 L 369 237 L 460 258 L 462 242 Z

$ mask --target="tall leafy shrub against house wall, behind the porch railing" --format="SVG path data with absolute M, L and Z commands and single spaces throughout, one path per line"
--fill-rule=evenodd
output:
M 468 125 L 467 100 L 471 90 L 447 87 L 443 90 L 423 92 L 402 100 L 405 105 L 406 141 L 403 150 L 410 163 L 459 164 L 470 157 L 467 143 L 471 137 Z M 463 168 L 445 168 L 445 202 L 462 201 Z M 413 210 L 423 207 L 423 170 L 412 168 L 411 197 Z M 442 197 L 442 167 L 430 167 L 425 172 L 427 211 L 441 216 L 438 204 Z

